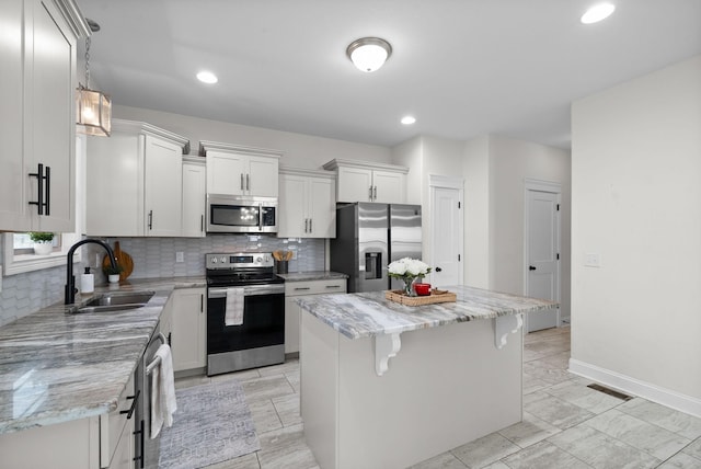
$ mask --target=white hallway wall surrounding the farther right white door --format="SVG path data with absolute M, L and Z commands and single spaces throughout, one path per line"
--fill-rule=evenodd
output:
M 525 180 L 560 183 L 561 314 L 570 316 L 570 152 L 482 136 L 464 144 L 466 284 L 524 294 Z

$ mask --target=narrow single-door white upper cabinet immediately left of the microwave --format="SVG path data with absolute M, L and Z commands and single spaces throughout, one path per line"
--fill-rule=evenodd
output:
M 205 237 L 206 205 L 205 161 L 200 157 L 183 157 L 183 236 Z

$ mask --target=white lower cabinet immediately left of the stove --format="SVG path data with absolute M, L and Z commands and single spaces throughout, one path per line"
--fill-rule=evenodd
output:
M 207 365 L 207 289 L 173 290 L 171 348 L 173 370 L 202 368 Z

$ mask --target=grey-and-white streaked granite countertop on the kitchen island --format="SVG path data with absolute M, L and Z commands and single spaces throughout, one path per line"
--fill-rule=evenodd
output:
M 560 306 L 554 301 L 468 286 L 450 286 L 446 289 L 457 295 L 456 302 L 404 306 L 386 299 L 384 291 L 314 295 L 299 297 L 296 301 L 348 339 L 436 328 Z

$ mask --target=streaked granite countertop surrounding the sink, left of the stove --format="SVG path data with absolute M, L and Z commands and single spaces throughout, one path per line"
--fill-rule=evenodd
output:
M 205 277 L 135 279 L 78 295 L 77 305 L 114 291 L 156 291 L 146 307 L 67 313 L 51 305 L 0 328 L 0 433 L 108 413 L 116 409 L 174 288 Z

